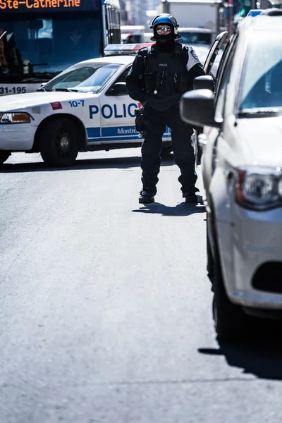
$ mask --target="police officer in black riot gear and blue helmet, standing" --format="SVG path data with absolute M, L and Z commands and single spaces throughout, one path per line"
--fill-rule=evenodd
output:
M 174 159 L 180 168 L 181 190 L 185 202 L 197 203 L 195 155 L 191 144 L 192 127 L 180 119 L 179 101 L 183 92 L 192 89 L 193 80 L 204 75 L 204 69 L 192 47 L 176 40 L 178 23 L 162 13 L 154 18 L 150 47 L 137 52 L 125 82 L 132 99 L 142 104 L 135 121 L 136 130 L 144 136 L 142 143 L 142 190 L 140 203 L 154 202 L 161 165 L 162 135 L 171 128 Z M 139 116 L 138 116 L 139 115 Z M 140 116 L 141 115 L 141 116 Z M 141 119 L 142 117 L 142 119 Z

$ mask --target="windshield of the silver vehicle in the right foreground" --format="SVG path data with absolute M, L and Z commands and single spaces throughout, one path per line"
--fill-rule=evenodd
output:
M 255 33 L 247 49 L 240 84 L 239 114 L 264 117 L 282 111 L 282 34 Z M 263 113 L 262 113 L 263 112 Z

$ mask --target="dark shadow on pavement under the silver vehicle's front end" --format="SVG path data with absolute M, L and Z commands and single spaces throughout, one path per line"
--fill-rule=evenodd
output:
M 253 374 L 262 379 L 282 380 L 280 334 L 281 322 L 262 320 L 262 330 L 258 331 L 251 341 L 223 343 L 218 340 L 219 349 L 200 348 L 198 351 L 206 355 L 224 355 L 230 366 L 243 369 L 244 374 Z

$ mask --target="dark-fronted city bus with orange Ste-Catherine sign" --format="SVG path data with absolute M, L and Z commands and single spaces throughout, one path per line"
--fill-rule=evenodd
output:
M 118 0 L 1 0 L 0 95 L 33 92 L 121 42 Z

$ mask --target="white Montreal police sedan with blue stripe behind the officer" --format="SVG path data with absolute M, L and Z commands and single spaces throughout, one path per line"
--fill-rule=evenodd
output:
M 128 96 L 125 76 L 145 45 L 111 44 L 109 56 L 76 63 L 39 92 L 1 97 L 0 164 L 13 152 L 40 152 L 49 166 L 71 166 L 78 152 L 140 147 L 140 104 Z M 169 148 L 170 140 L 166 130 Z

